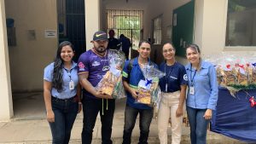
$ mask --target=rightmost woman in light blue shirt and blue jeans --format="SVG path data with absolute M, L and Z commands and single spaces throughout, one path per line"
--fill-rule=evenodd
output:
M 218 100 L 218 82 L 214 66 L 201 60 L 200 49 L 191 44 L 186 49 L 189 64 L 186 66 L 189 90 L 187 112 L 192 144 L 207 143 L 207 125 Z

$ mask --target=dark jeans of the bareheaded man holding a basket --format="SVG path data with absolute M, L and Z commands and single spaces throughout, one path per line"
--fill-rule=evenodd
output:
M 131 133 L 135 126 L 138 113 L 140 114 L 139 144 L 148 143 L 149 127 L 153 118 L 153 109 L 137 109 L 126 105 L 123 144 L 131 144 Z

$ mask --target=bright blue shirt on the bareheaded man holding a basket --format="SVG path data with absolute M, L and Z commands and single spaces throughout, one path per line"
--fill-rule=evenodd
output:
M 131 72 L 129 72 L 129 63 L 130 60 L 127 60 L 125 62 L 125 67 L 123 69 L 123 79 L 125 81 L 127 81 L 128 84 L 130 84 L 130 86 L 132 88 L 137 89 L 137 85 L 140 82 L 141 79 L 145 80 L 144 76 L 143 76 L 143 72 L 141 67 L 138 64 L 137 58 L 135 58 L 133 60 L 132 63 L 132 68 L 131 68 Z M 154 64 L 154 62 L 150 61 L 148 59 L 148 63 L 149 65 L 153 65 L 154 68 L 158 68 L 158 66 L 156 64 Z M 128 91 L 126 91 L 127 94 L 127 101 L 126 103 L 130 106 L 130 107 L 134 107 L 137 109 L 151 109 L 152 107 L 148 107 L 148 105 L 142 104 L 142 103 L 137 103 L 135 101 L 135 99 L 132 97 L 131 93 L 129 93 Z

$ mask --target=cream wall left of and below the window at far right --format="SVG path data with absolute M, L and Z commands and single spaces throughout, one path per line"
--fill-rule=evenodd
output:
M 201 47 L 203 56 L 221 52 L 236 55 L 255 53 L 255 47 L 226 47 L 226 21 L 228 0 L 196 0 L 195 43 Z

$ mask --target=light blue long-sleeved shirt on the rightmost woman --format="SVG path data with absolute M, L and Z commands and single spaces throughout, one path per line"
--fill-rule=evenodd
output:
M 187 106 L 197 109 L 216 109 L 218 101 L 218 81 L 214 66 L 206 61 L 201 61 L 200 71 L 195 69 L 189 63 L 186 66 L 188 74 L 189 88 L 193 86 L 195 95 L 188 91 Z

